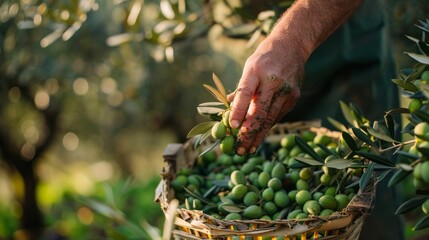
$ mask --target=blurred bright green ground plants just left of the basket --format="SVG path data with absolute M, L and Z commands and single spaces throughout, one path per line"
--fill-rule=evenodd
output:
M 101 193 L 95 196 L 78 196 L 74 199 L 76 207 L 90 209 L 90 219 L 94 219 L 88 221 L 88 215 L 81 214 L 80 221 L 97 229 L 91 232 L 98 235 L 94 238 L 160 239 L 153 237 L 161 236 L 162 229 L 161 209 L 153 202 L 158 182 L 159 178 L 153 178 L 146 184 L 136 184 L 128 178 L 114 185 L 103 184 Z

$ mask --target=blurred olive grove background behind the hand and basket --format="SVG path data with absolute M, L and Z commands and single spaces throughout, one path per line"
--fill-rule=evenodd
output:
M 164 148 L 292 2 L 1 1 L 0 239 L 155 236 Z M 401 68 L 429 1 L 383 4 Z

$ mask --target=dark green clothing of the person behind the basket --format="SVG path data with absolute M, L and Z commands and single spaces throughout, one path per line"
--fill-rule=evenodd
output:
M 309 19 L 311 21 L 311 19 Z M 311 55 L 301 98 L 284 121 L 327 117 L 345 123 L 339 101 L 359 106 L 371 121 L 383 119 L 386 110 L 399 106 L 396 70 L 387 25 L 378 1 L 366 0 L 357 12 Z M 386 179 L 377 188 L 372 214 L 360 239 L 403 239 L 403 223 L 395 215 L 395 191 Z

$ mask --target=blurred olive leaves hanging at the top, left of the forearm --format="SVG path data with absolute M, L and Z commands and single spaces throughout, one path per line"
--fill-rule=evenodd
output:
M 110 46 L 126 42 L 144 41 L 159 46 L 157 55 L 174 61 L 175 45 L 205 36 L 215 27 L 230 38 L 248 39 L 252 45 L 259 36 L 268 34 L 280 15 L 293 1 L 157 1 L 160 15 L 152 24 L 137 21 L 142 11 L 142 1 L 134 1 L 127 17 L 131 31 L 112 35 L 107 40 Z M 143 31 L 142 31 L 143 28 Z

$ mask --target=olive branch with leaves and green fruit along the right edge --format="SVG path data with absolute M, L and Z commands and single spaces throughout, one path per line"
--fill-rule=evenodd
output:
M 427 76 L 427 74 L 429 74 L 429 40 L 427 39 L 427 34 L 429 33 L 429 20 L 426 20 L 425 22 L 420 21 L 417 27 L 422 31 L 421 38 L 418 39 L 410 36 L 408 36 L 408 38 L 417 45 L 419 51 L 417 53 L 406 52 L 406 54 L 415 61 L 415 65 L 412 68 L 401 70 L 400 79 L 394 80 L 394 83 L 402 89 L 402 95 L 411 100 L 408 109 L 409 112 L 406 110 L 402 112 L 402 114 L 408 115 L 409 120 L 409 123 L 404 127 L 403 132 L 413 135 L 415 141 L 411 149 L 408 150 L 410 154 L 405 154 L 406 162 L 402 163 L 402 168 L 396 170 L 395 175 L 390 182 L 390 185 L 393 185 L 394 183 L 402 180 L 406 175 L 414 173 L 414 185 L 417 196 L 403 203 L 397 210 L 397 214 L 421 208 L 424 200 L 429 199 L 429 191 L 427 187 L 425 187 L 427 184 L 423 183 L 422 186 L 416 182 L 422 180 L 416 176 L 416 172 L 419 171 L 419 166 L 427 162 L 429 158 L 429 152 L 424 147 L 424 144 L 427 143 L 429 139 L 425 136 L 420 136 L 420 132 L 416 133 L 417 129 L 414 131 L 415 127 L 419 123 L 421 123 L 420 126 L 422 126 L 422 124 L 429 121 L 429 82 L 427 81 L 429 80 Z M 421 102 L 421 105 L 417 108 L 411 105 L 411 103 L 416 101 Z M 417 149 L 417 151 L 413 151 L 413 148 Z M 400 154 L 401 152 L 398 151 L 398 153 Z M 428 175 L 429 173 L 422 171 L 421 174 Z M 426 215 L 416 223 L 414 229 L 420 230 L 427 227 L 429 227 L 429 218 Z

